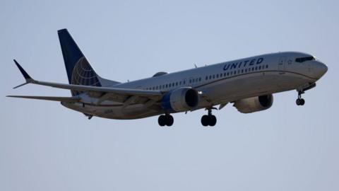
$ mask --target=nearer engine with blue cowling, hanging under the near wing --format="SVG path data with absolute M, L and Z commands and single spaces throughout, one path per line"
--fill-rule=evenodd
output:
M 190 87 L 177 88 L 162 97 L 162 109 L 169 112 L 181 112 L 195 108 L 199 103 L 198 92 Z

